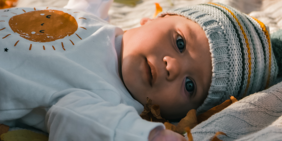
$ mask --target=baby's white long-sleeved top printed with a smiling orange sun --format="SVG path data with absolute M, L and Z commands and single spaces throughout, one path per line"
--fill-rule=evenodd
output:
M 0 124 L 49 140 L 148 140 L 164 125 L 140 118 L 118 75 L 122 29 L 65 8 L 0 10 Z

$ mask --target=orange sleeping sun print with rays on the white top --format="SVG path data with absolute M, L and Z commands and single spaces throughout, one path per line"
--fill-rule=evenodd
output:
M 76 30 L 78 29 L 78 23 L 76 19 L 68 13 L 59 10 L 37 10 L 34 8 L 34 11 L 26 12 L 22 9 L 23 14 L 16 14 L 11 17 L 9 22 L 9 26 L 15 33 L 18 33 L 20 37 L 27 39 L 29 41 L 34 42 L 52 42 L 58 39 L 63 39 L 66 36 L 71 36 L 72 34 L 76 34 Z M 12 12 L 11 12 L 12 13 Z M 74 12 L 79 13 L 79 12 Z M 79 18 L 86 19 L 86 18 Z M 5 22 L 5 21 L 4 21 Z M 6 27 L 5 27 L 6 28 Z M 4 30 L 2 28 L 0 30 Z M 86 30 L 84 27 L 80 27 Z M 6 35 L 4 38 L 7 38 L 9 35 Z M 78 34 L 76 36 L 80 38 Z M 20 40 L 16 41 L 15 45 L 19 43 Z M 74 42 L 69 40 L 72 45 Z M 46 46 L 46 45 L 45 45 Z M 43 45 L 43 50 L 45 50 L 45 46 Z M 65 50 L 63 42 L 61 42 L 61 47 Z M 30 44 L 29 50 L 32 48 L 32 43 Z M 52 45 L 54 50 L 55 47 Z

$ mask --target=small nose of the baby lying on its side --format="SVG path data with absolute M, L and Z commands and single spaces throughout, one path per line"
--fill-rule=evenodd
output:
M 180 65 L 175 58 L 165 56 L 163 61 L 166 63 L 166 79 L 168 81 L 173 81 L 180 73 Z

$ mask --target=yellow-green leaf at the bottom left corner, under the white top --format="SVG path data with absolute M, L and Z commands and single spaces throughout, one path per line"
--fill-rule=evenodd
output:
M 45 136 L 43 134 L 34 133 L 30 130 L 14 130 L 9 131 L 7 133 L 2 134 L 1 140 L 4 141 L 19 141 L 19 140 L 30 140 L 30 141 L 48 141 L 48 136 Z

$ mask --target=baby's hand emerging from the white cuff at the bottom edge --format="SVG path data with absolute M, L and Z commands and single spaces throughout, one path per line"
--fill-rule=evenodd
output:
M 158 130 L 153 129 L 149 135 L 149 141 L 187 141 L 179 133 L 173 132 L 171 130 Z

